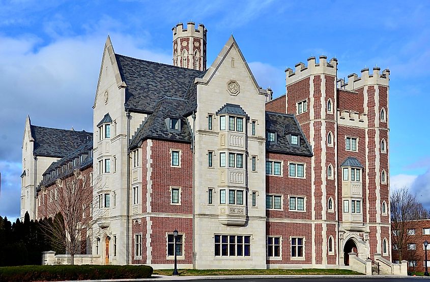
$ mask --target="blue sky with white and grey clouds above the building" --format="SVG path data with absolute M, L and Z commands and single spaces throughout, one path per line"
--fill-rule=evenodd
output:
M 430 191 L 427 108 L 430 3 L 344 1 L 0 0 L 0 215 L 19 216 L 25 117 L 92 129 L 92 103 L 109 34 L 117 53 L 171 63 L 171 28 L 208 29 L 208 65 L 233 34 L 259 84 L 285 92 L 284 69 L 338 58 L 339 77 L 391 70 L 390 180 L 419 199 Z

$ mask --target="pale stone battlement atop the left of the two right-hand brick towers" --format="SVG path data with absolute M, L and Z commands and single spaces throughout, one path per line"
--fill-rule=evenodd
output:
M 316 63 L 315 57 L 307 59 L 307 66 L 303 62 L 298 62 L 295 66 L 295 71 L 288 68 L 285 70 L 286 85 L 292 84 L 313 74 L 328 74 L 336 76 L 337 73 L 337 59 L 332 58 L 327 62 L 327 56 L 321 55 L 319 64 Z

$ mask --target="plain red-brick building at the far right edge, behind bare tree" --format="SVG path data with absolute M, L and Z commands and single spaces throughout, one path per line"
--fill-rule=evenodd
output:
M 407 230 L 407 237 L 405 250 L 403 251 L 403 260 L 408 261 L 408 271 L 425 271 L 425 247 L 424 241 L 427 240 L 427 268 L 430 269 L 430 220 L 416 220 L 408 222 L 405 225 Z M 394 224 L 392 226 L 392 261 L 399 263 L 399 248 L 395 242 L 400 231 L 396 230 Z M 406 236 L 405 236 L 406 237 Z

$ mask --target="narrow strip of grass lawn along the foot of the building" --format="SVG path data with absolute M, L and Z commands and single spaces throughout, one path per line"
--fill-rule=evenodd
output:
M 173 269 L 154 269 L 153 275 L 171 275 Z M 347 269 L 178 269 L 182 276 L 199 275 L 363 275 Z

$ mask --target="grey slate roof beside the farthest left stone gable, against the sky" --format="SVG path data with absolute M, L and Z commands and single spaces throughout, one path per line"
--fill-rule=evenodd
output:
M 93 134 L 86 131 L 74 131 L 56 128 L 31 126 L 35 139 L 33 154 L 63 158 L 76 148 L 93 140 Z

